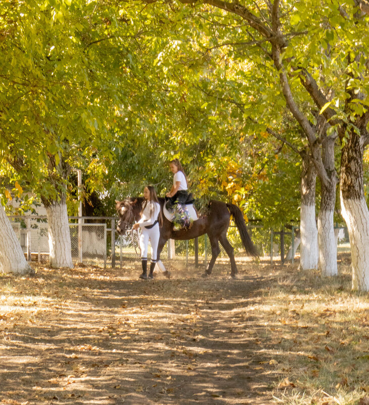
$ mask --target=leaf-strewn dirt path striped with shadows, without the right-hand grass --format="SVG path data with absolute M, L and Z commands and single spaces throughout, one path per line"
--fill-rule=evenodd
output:
M 137 280 L 137 261 L 3 276 L 0 403 L 272 403 L 279 376 L 248 314 L 269 276 L 239 267 L 239 280 L 227 262 L 211 279 L 172 268 Z

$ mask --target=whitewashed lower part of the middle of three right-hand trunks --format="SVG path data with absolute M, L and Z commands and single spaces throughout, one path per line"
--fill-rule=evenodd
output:
M 334 233 L 333 211 L 320 211 L 318 215 L 318 267 L 322 277 L 338 275 L 337 243 Z

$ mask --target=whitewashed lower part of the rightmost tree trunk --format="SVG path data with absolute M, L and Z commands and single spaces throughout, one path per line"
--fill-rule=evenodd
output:
M 341 212 L 351 246 L 352 289 L 369 291 L 369 211 L 364 198 L 344 199 Z

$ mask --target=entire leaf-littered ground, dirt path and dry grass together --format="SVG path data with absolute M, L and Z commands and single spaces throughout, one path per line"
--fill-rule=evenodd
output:
M 139 280 L 139 260 L 3 275 L 0 403 L 251 405 L 289 403 L 289 392 L 312 403 L 311 391 L 320 405 L 311 378 L 325 373 L 334 398 L 335 362 L 346 370 L 345 350 L 368 348 L 354 337 L 367 297 L 350 293 L 347 273 L 327 283 L 297 263 L 237 260 L 238 280 L 229 261 L 203 279 L 183 260 L 166 263 L 170 280 Z

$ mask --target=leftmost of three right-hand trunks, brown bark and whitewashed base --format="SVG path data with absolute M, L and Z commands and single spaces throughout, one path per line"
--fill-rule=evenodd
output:
M 302 154 L 301 212 L 300 212 L 300 267 L 303 270 L 318 266 L 318 232 L 315 220 L 316 172 L 310 155 Z

